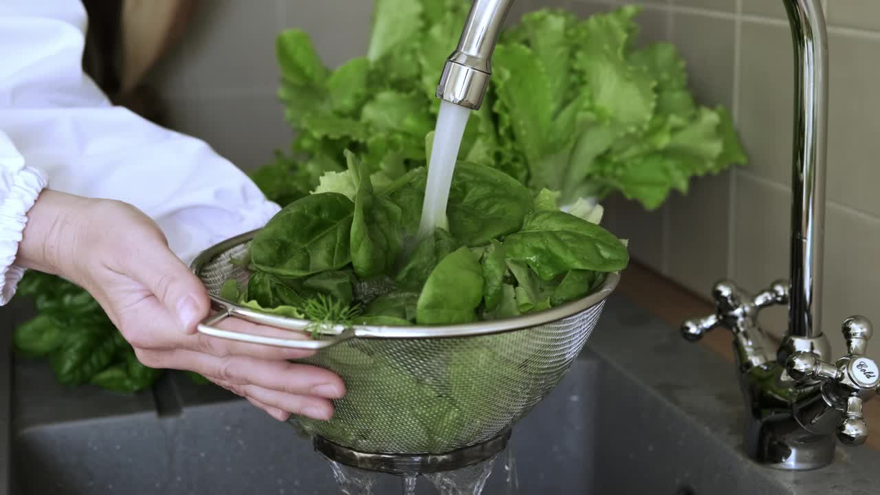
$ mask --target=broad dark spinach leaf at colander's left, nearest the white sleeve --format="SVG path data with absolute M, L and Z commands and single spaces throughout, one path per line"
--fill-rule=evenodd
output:
M 290 203 L 253 237 L 253 266 L 282 277 L 341 269 L 351 262 L 354 209 L 354 203 L 339 193 L 304 196 Z

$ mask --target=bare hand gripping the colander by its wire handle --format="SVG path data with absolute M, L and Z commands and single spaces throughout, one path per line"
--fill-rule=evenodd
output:
M 209 313 L 208 292 L 172 253 L 158 226 L 127 203 L 44 191 L 28 212 L 16 262 L 67 277 L 92 293 L 144 365 L 201 373 L 278 420 L 290 412 L 328 419 L 329 399 L 344 394 L 334 373 L 287 361 L 311 351 L 196 333 Z M 218 326 L 298 335 L 233 319 Z

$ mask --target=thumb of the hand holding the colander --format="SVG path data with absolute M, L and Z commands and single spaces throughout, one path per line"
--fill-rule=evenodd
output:
M 167 245 L 152 244 L 142 253 L 132 273 L 180 323 L 185 334 L 194 334 L 210 309 L 205 286 Z

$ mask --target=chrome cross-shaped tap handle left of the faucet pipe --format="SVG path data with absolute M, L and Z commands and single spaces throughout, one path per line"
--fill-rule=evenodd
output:
M 734 334 L 757 329 L 757 317 L 761 309 L 788 304 L 788 284 L 778 280 L 758 295 L 752 296 L 730 280 L 722 280 L 713 287 L 712 298 L 715 299 L 715 314 L 682 323 L 681 334 L 687 340 L 700 340 L 709 330 L 722 325 Z

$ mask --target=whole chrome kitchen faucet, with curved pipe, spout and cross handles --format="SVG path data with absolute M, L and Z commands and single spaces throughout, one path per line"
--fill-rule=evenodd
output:
M 870 322 L 843 322 L 847 355 L 829 364 L 821 324 L 825 225 L 825 141 L 828 61 L 820 0 L 782 0 L 796 61 L 789 280 L 752 296 L 730 281 L 715 284 L 715 314 L 686 321 L 682 334 L 699 340 L 723 326 L 734 336 L 737 372 L 747 406 L 744 448 L 778 469 L 817 469 L 834 458 L 835 433 L 860 445 L 868 430 L 862 402 L 880 392 L 880 372 L 864 356 Z M 458 48 L 444 66 L 436 96 L 478 109 L 492 73 L 491 58 L 513 0 L 475 0 Z M 788 331 L 775 356 L 758 324 L 762 308 L 788 305 Z

